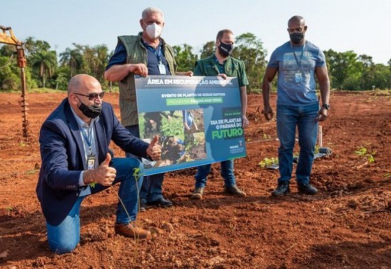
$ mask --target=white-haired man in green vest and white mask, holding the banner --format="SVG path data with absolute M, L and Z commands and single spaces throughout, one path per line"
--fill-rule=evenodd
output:
M 176 61 L 171 46 L 161 38 L 164 16 L 160 9 L 149 7 L 143 10 L 140 19 L 143 29 L 137 36 L 118 36 L 118 44 L 106 66 L 105 78 L 119 84 L 121 123 L 133 136 L 140 137 L 136 105 L 134 76 L 186 75 L 193 72 L 176 72 Z M 126 156 L 131 157 L 130 153 Z M 140 190 L 140 210 L 148 205 L 170 207 L 171 201 L 163 198 L 164 173 L 144 178 Z

